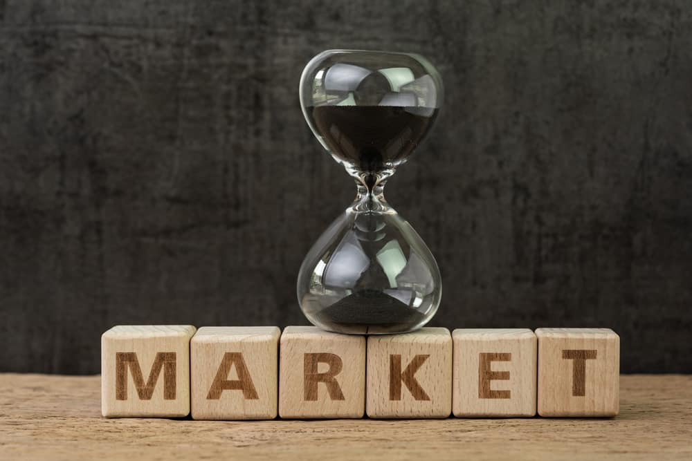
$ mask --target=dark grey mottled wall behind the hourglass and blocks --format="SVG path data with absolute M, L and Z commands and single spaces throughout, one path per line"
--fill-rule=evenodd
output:
M 386 191 L 432 324 L 609 326 L 623 371 L 692 372 L 691 44 L 684 0 L 0 0 L 0 370 L 96 373 L 117 323 L 304 323 L 355 188 L 298 78 L 375 48 L 446 83 Z

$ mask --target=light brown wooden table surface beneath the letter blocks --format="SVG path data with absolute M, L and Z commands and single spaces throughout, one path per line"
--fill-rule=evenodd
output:
M 0 374 L 0 459 L 692 459 L 692 375 L 621 377 L 614 419 L 106 420 L 100 379 Z

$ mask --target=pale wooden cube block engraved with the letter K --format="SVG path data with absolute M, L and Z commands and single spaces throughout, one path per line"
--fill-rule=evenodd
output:
M 452 337 L 446 328 L 367 337 L 367 415 L 448 417 Z

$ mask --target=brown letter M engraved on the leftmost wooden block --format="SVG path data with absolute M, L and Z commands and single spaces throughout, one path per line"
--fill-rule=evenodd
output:
M 135 352 L 116 352 L 116 400 L 127 400 L 127 370 L 132 373 L 134 386 L 141 400 L 150 400 L 158 376 L 163 368 L 163 399 L 175 400 L 176 387 L 176 353 L 156 352 L 152 370 L 149 372 L 147 384 L 144 384 L 142 368 Z

